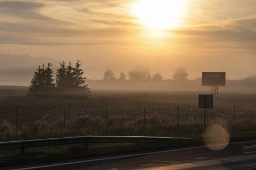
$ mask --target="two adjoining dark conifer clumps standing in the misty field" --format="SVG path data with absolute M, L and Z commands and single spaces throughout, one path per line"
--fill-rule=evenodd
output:
M 81 63 L 77 60 L 75 67 L 69 62 L 63 61 L 56 71 L 56 78 L 53 78 L 51 63 L 36 69 L 28 87 L 28 95 L 31 96 L 82 96 L 90 95 L 90 88 L 85 84 L 84 71 L 80 69 Z

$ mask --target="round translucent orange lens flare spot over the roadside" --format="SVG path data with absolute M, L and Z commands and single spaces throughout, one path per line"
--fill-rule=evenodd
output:
M 229 134 L 220 125 L 211 125 L 203 133 L 204 145 L 211 150 L 219 151 L 228 146 Z

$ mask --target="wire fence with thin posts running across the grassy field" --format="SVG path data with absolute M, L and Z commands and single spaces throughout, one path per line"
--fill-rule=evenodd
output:
M 228 112 L 227 112 L 228 111 Z M 254 111 L 243 112 L 236 105 L 228 109 L 215 108 L 209 109 L 207 122 L 221 118 L 222 120 L 236 121 L 246 116 L 255 118 Z M 94 117 L 97 122 L 91 126 L 101 126 L 101 129 L 109 130 L 109 127 L 117 128 L 120 126 L 147 126 L 172 124 L 179 126 L 182 122 L 204 122 L 203 109 L 191 105 L 165 105 L 165 106 L 136 106 L 136 107 L 106 107 L 106 108 L 83 108 L 83 107 L 45 107 L 30 109 L 2 108 L 0 116 L 3 122 L 9 122 L 15 127 L 15 133 L 22 131 L 24 125 L 32 126 L 35 121 L 58 122 L 59 128 L 65 129 L 69 120 L 76 117 Z M 73 125 L 75 126 L 75 125 Z

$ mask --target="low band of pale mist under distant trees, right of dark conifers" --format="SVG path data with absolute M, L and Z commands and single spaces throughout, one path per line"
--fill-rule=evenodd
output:
M 92 90 L 102 91 L 144 91 L 144 92 L 200 92 L 210 94 L 210 86 L 201 86 L 201 80 L 161 80 L 153 82 L 146 80 L 143 82 L 106 82 L 104 80 L 87 80 L 86 83 Z M 249 80 L 226 80 L 225 87 L 219 87 L 218 93 L 249 94 L 256 95 L 256 78 Z

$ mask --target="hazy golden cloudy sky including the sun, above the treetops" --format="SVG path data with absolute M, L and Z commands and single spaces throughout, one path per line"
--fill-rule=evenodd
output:
M 0 0 L 0 54 L 79 59 L 89 79 L 137 66 L 241 79 L 256 74 L 256 1 Z

